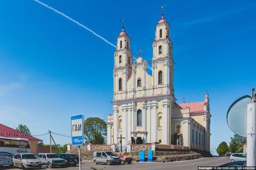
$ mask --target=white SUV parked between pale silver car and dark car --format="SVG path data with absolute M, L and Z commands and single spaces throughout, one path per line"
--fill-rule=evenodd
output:
M 67 160 L 56 157 L 55 153 L 38 153 L 36 157 L 41 160 L 43 165 L 49 168 L 54 166 L 65 167 L 67 164 Z

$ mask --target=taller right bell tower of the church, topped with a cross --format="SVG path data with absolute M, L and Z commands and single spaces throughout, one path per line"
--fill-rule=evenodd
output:
M 170 25 L 162 14 L 156 24 L 156 33 L 153 41 L 152 76 L 154 95 L 173 94 L 173 45 L 170 39 Z

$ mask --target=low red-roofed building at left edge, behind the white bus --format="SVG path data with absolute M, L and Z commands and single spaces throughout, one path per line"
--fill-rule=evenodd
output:
M 34 154 L 38 153 L 38 143 L 42 141 L 41 139 L 35 138 L 28 134 L 24 134 L 23 132 L 12 129 L 11 127 L 8 127 L 3 124 L 0 124 L 0 137 L 28 139 L 30 142 L 31 153 Z

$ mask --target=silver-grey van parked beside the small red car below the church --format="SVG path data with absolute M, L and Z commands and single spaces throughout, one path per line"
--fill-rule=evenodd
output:
M 104 163 L 108 166 L 111 164 L 121 164 L 120 158 L 113 152 L 93 152 L 93 162 L 95 164 Z

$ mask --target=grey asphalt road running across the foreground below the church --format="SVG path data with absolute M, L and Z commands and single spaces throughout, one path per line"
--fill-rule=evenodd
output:
M 82 163 L 82 169 L 83 170 L 89 170 L 91 167 L 95 167 L 96 169 L 136 169 L 136 170 L 142 170 L 142 169 L 168 169 L 168 170 L 179 170 L 179 169 L 186 169 L 186 170 L 195 170 L 198 166 L 220 166 L 221 164 L 229 162 L 229 157 L 205 157 L 201 159 L 195 159 L 195 160 L 184 160 L 184 161 L 178 161 L 178 162 L 166 162 L 166 163 L 160 163 L 160 162 L 136 162 L 132 164 L 125 164 L 125 165 L 115 165 L 115 166 L 106 166 L 106 165 L 95 165 L 93 162 L 83 162 Z M 17 168 L 13 169 L 16 170 Z M 42 167 L 42 169 L 47 170 L 47 167 Z M 58 169 L 58 170 L 79 170 L 79 167 L 65 167 L 65 168 L 52 168 L 52 169 Z M 19 169 L 20 170 L 20 169 Z

